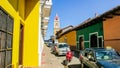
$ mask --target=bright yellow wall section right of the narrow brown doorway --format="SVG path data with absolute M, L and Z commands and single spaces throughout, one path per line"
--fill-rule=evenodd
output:
M 38 22 L 39 22 L 39 2 L 26 2 L 26 9 L 29 10 L 25 20 L 24 30 L 24 58 L 23 65 L 38 66 Z M 30 5 L 32 4 L 32 5 Z M 35 4 L 35 5 L 33 5 Z M 30 8 L 31 7 L 31 8 Z

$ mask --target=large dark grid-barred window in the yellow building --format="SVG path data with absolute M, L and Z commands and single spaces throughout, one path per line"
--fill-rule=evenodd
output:
M 12 68 L 13 19 L 0 8 L 0 68 Z

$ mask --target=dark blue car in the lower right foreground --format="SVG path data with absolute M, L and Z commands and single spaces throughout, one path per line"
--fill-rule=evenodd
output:
M 86 48 L 80 51 L 81 68 L 120 68 L 120 56 L 114 49 Z

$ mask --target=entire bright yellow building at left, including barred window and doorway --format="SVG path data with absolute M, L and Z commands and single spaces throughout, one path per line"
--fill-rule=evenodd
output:
M 40 67 L 40 8 L 40 0 L 0 0 L 0 68 Z

